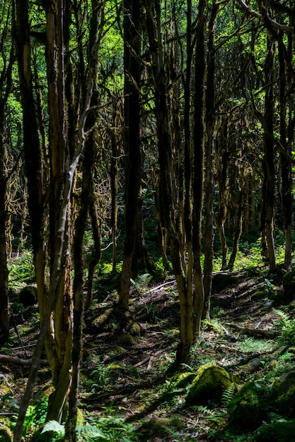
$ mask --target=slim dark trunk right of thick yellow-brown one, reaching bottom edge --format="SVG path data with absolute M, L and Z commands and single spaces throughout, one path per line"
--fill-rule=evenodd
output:
M 94 253 L 88 269 L 88 293 L 86 307 L 92 299 L 92 280 L 97 263 L 100 261 L 100 229 L 98 228 L 96 201 L 94 198 L 93 166 L 96 164 L 95 125 L 98 108 L 98 52 L 100 36 L 103 32 L 105 2 L 92 0 L 91 26 L 88 49 L 87 89 L 83 94 L 83 107 L 88 109 L 85 131 L 88 136 L 84 145 L 82 162 L 82 189 L 79 198 L 79 212 L 76 215 L 74 229 L 74 282 L 73 282 L 73 339 L 71 347 L 71 385 L 69 391 L 69 413 L 66 419 L 64 442 L 76 442 L 76 423 L 79 399 L 79 377 L 82 357 L 83 335 L 83 236 L 86 230 L 88 216 L 91 217 L 93 228 Z M 83 41 L 79 41 L 82 45 Z M 88 108 L 89 106 L 89 108 Z

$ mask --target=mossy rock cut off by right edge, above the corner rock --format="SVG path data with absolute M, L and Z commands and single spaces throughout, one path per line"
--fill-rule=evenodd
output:
M 274 382 L 273 390 L 277 400 L 277 406 L 281 414 L 294 414 L 295 403 L 295 371 L 284 374 Z

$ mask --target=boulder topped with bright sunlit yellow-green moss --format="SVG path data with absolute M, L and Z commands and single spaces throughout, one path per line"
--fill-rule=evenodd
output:
M 237 385 L 234 378 L 223 367 L 205 364 L 197 370 L 192 386 L 187 393 L 187 403 L 190 405 L 208 405 L 208 402 L 218 404 L 226 388 L 231 384 Z

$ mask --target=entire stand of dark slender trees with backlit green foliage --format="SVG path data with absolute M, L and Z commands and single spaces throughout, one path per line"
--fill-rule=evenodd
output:
M 156 274 L 146 220 L 177 282 L 176 362 L 189 361 L 210 316 L 214 250 L 232 270 L 241 235 L 252 235 L 275 272 L 278 229 L 291 270 L 294 8 L 292 0 L 1 2 L 1 345 L 7 261 L 24 241 L 41 318 L 16 442 L 44 345 L 54 383 L 47 420 L 66 422 L 65 440 L 76 440 L 93 276 L 111 246 L 116 308 L 127 318 L 132 280 Z

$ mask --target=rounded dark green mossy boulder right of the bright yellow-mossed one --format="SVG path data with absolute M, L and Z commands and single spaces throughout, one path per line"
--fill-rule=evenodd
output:
M 231 426 L 241 430 L 257 429 L 267 418 L 266 396 L 258 383 L 245 383 L 229 406 Z

